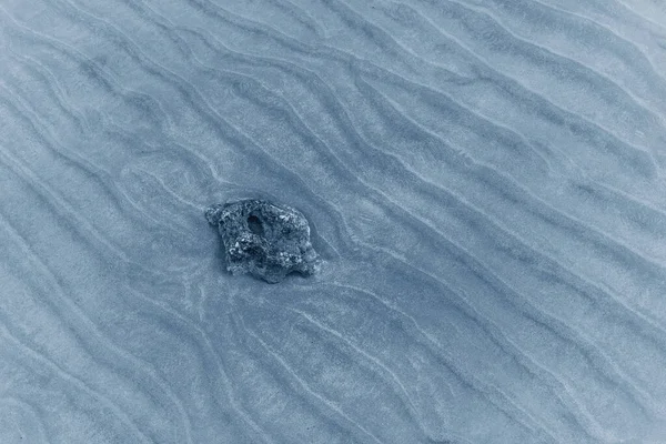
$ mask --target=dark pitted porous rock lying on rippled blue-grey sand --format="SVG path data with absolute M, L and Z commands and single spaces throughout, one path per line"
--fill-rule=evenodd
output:
M 212 205 L 205 218 L 218 228 L 232 274 L 278 283 L 292 272 L 311 275 L 319 266 L 307 220 L 291 206 L 246 199 Z

